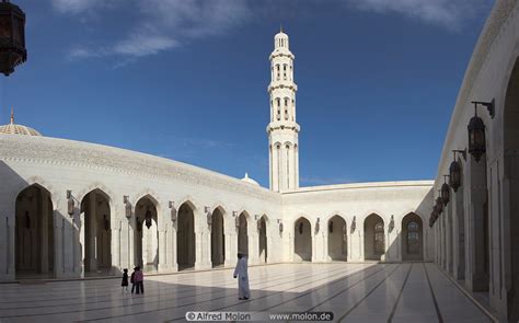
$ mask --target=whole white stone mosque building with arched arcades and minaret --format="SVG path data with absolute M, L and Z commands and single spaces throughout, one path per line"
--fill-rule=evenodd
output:
M 238 252 L 250 265 L 426 261 L 485 292 L 500 318 L 518 318 L 518 12 L 517 1 L 496 1 L 435 181 L 299 187 L 295 55 L 282 31 L 269 56 L 269 189 L 247 175 L 48 138 L 11 117 L 0 127 L 0 280 L 220 268 Z M 471 137 L 483 140 L 480 158 L 472 101 L 483 102 L 483 137 Z M 453 150 L 466 153 L 453 160 Z M 455 191 L 443 185 L 452 168 Z

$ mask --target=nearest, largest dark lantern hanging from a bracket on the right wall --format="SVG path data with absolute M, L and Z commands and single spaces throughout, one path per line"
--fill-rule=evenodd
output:
M 474 157 L 476 162 L 480 162 L 483 153 L 486 152 L 486 139 L 485 139 L 485 124 L 483 119 L 477 116 L 477 105 L 486 106 L 491 116 L 494 118 L 495 108 L 494 100 L 489 103 L 473 101 L 474 104 L 474 116 L 469 122 L 469 153 Z

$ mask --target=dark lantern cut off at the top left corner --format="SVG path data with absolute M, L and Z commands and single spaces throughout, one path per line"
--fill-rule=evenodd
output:
M 9 76 L 27 60 L 25 13 L 9 0 L 0 2 L 0 72 Z

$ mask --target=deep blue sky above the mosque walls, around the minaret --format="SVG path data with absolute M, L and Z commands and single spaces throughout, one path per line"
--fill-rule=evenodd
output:
M 301 186 L 428 180 L 492 0 L 14 0 L 0 116 L 268 186 L 268 55 L 296 55 Z

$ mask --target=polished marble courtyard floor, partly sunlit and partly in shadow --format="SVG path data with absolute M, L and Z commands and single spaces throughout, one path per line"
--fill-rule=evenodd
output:
M 434 264 L 279 264 L 251 267 L 238 300 L 231 269 L 119 279 L 0 285 L 0 322 L 172 322 L 186 311 L 332 311 L 336 322 L 492 322 Z

